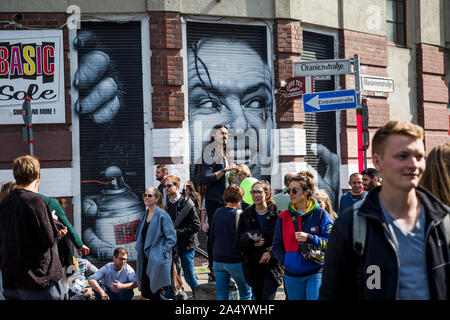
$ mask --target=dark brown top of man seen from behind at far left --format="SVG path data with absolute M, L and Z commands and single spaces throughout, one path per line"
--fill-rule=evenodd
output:
M 38 194 L 16 189 L 0 203 L 2 275 L 5 289 L 44 289 L 63 277 L 58 229 Z

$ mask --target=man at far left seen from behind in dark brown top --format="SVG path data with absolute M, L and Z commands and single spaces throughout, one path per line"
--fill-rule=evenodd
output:
M 14 160 L 16 189 L 0 203 L 4 295 L 7 300 L 62 300 L 63 269 L 58 228 L 37 194 L 40 164 L 32 156 Z

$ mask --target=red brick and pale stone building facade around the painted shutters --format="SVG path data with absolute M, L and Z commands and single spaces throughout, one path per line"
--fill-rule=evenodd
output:
M 145 1 L 144 1 L 145 2 Z M 262 3 L 272 3 L 263 1 Z M 378 2 L 375 1 L 377 4 Z M 136 6 L 140 1 L 133 2 Z M 178 3 L 178 2 L 177 2 Z M 274 1 L 276 6 L 280 1 Z M 81 6 L 83 28 L 83 12 Z M 218 3 L 217 5 L 223 5 Z M 181 4 L 180 4 L 181 6 Z M 264 5 L 262 5 L 264 7 Z M 278 7 L 277 7 L 278 8 Z M 303 112 L 303 104 L 300 99 L 287 101 L 285 99 L 284 88 L 281 83 L 294 75 L 294 63 L 303 59 L 304 54 L 304 31 L 319 30 L 322 28 L 325 34 L 332 34 L 336 47 L 330 47 L 334 58 L 353 58 L 358 54 L 361 62 L 363 74 L 379 77 L 393 77 L 389 60 L 390 52 L 397 50 L 393 44 L 386 40 L 386 36 L 379 31 L 369 33 L 364 28 L 346 27 L 346 22 L 336 27 L 321 26 L 311 23 L 313 18 L 307 17 L 307 12 L 303 16 L 298 14 L 262 14 L 261 12 L 251 12 L 247 8 L 242 15 L 223 14 L 202 14 L 201 8 L 179 7 L 163 10 L 164 6 L 147 7 L 144 12 L 139 12 L 139 18 L 130 19 L 140 21 L 144 30 L 142 38 L 148 37 L 149 47 L 142 45 L 142 65 L 144 70 L 144 86 L 142 95 L 150 97 L 149 103 L 144 101 L 145 114 L 150 114 L 145 132 L 145 183 L 141 183 L 140 188 L 133 190 L 139 194 L 145 186 L 157 185 L 154 179 L 154 169 L 158 164 L 169 165 L 171 173 L 175 173 L 182 178 L 182 182 L 188 180 L 191 175 L 191 156 L 189 155 L 189 141 L 192 139 L 189 134 L 189 101 L 188 101 L 188 72 L 186 53 L 186 20 L 204 21 L 204 17 L 209 17 L 210 23 L 230 20 L 231 24 L 246 26 L 249 19 L 252 23 L 256 21 L 259 25 L 267 25 L 268 43 L 267 56 L 268 65 L 273 74 L 272 96 L 273 96 L 273 130 L 276 133 L 279 153 L 276 155 L 276 170 L 272 175 L 274 188 L 280 188 L 282 176 L 288 171 L 296 171 L 308 168 L 307 157 L 311 149 L 310 143 L 305 142 L 309 136 L 305 123 L 307 122 Z M 77 230 L 83 232 L 83 219 L 81 213 L 84 210 L 82 196 L 80 194 L 80 170 L 75 164 L 83 163 L 83 158 L 79 155 L 79 146 L 74 138 L 74 132 L 79 126 L 78 120 L 72 119 L 75 99 L 73 94 L 74 70 L 73 61 L 69 56 L 74 56 L 70 41 L 73 39 L 65 23 L 68 14 L 65 8 L 38 8 L 33 12 L 24 11 L 17 7 L 16 10 L 3 11 L 0 13 L 0 25 L 2 30 L 30 30 L 33 29 L 60 29 L 63 33 L 64 43 L 64 87 L 65 87 L 65 123 L 58 124 L 36 124 L 35 134 L 35 154 L 41 161 L 43 168 L 42 176 L 43 192 L 54 197 L 63 197 L 67 200 L 67 215 L 75 224 Z M 98 15 L 103 17 L 105 9 L 86 14 L 89 16 Z M 117 20 L 121 15 L 133 17 L 134 14 L 125 13 L 117 8 L 111 11 L 112 17 L 109 20 Z M 136 9 L 137 10 L 137 9 Z M 195 11 L 197 10 L 197 11 Z M 224 9 L 225 10 L 225 9 Z M 256 9 L 255 9 L 256 10 Z M 278 9 L 277 9 L 278 10 Z M 281 10 L 281 9 L 280 9 Z M 345 13 L 345 12 L 344 12 Z M 20 15 L 20 19 L 19 18 Z M 219 18 L 217 18 L 219 16 Z M 345 14 L 344 14 L 345 16 Z M 255 18 L 256 17 L 256 18 Z M 304 18 L 302 18 L 304 17 Z M 108 21 L 109 21 L 108 20 Z M 217 21 L 218 20 L 218 21 Z M 317 20 L 317 19 L 316 19 Z M 332 19 L 331 19 L 332 20 Z M 15 21 L 14 23 L 7 23 Z M 102 20 L 96 20 L 101 23 Z M 229 21 L 226 21 L 229 22 Z M 72 30 L 76 33 L 76 30 Z M 1 31 L 0 31 L 1 39 Z M 1 42 L 1 41 L 0 41 Z M 411 107 L 409 119 L 420 124 L 425 129 L 426 150 L 430 150 L 434 145 L 448 141 L 449 118 L 447 105 L 449 102 L 448 93 L 448 50 L 445 46 L 430 45 L 423 42 L 411 43 L 411 55 L 413 59 L 409 62 L 409 70 L 413 70 L 415 80 L 412 85 L 403 83 L 402 85 L 412 88 L 416 92 L 414 103 Z M 408 50 L 400 49 L 400 50 Z M 146 69 L 146 65 L 149 66 Z M 411 75 L 410 75 L 411 77 Z M 397 80 L 396 80 L 397 81 Z M 148 85 L 145 85 L 148 84 Z M 335 89 L 354 88 L 354 76 L 339 76 L 334 81 Z M 397 83 L 396 83 L 397 85 Z M 390 101 L 390 94 L 377 94 L 375 92 L 365 93 L 369 105 L 369 131 L 372 135 L 375 130 L 390 119 L 397 119 L 395 114 L 395 103 Z M 408 97 L 405 95 L 404 97 Z M 409 96 L 411 98 L 411 96 Z M 402 98 L 403 99 L 403 98 Z M 396 101 L 399 101 L 397 98 Z M 395 102 L 395 101 L 394 101 Z M 409 105 L 409 103 L 406 103 Z M 415 108 L 417 105 L 417 108 Z M 408 111 L 408 110 L 407 110 Z M 408 111 L 409 112 L 409 111 Z M 393 116 L 394 115 L 394 116 Z M 336 197 L 343 190 L 347 189 L 346 179 L 348 175 L 357 171 L 357 131 L 356 113 L 354 110 L 341 111 L 336 113 L 336 130 L 333 139 L 336 142 L 336 155 L 339 157 L 340 182 L 337 185 Z M 144 119 L 145 120 L 145 119 Z M 334 120 L 333 120 L 334 121 Z M 74 126 L 77 126 L 76 130 Z M 313 143 L 316 143 L 314 140 Z M 22 125 L 2 124 L 0 125 L 0 182 L 5 182 L 12 178 L 10 172 L 11 161 L 22 154 L 28 153 L 28 146 L 23 142 Z M 369 164 L 370 164 L 370 150 Z M 310 156 L 310 155 L 309 155 Z M 131 158 L 131 161 L 133 159 Z M 320 171 L 320 170 L 319 170 Z M 338 179 L 339 180 L 339 179 Z

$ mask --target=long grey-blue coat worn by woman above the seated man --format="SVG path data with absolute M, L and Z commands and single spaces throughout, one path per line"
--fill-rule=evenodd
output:
M 172 219 L 167 212 L 157 207 L 147 229 L 142 234 L 142 228 L 147 219 L 145 212 L 137 230 L 137 278 L 139 290 L 142 290 L 142 272 L 144 268 L 144 254 L 148 258 L 147 273 L 150 279 L 150 290 L 155 293 L 160 288 L 170 285 L 170 268 L 172 266 L 172 247 L 177 242 L 177 235 Z M 144 237 L 144 238 L 143 238 Z M 145 241 L 143 241 L 145 239 Z

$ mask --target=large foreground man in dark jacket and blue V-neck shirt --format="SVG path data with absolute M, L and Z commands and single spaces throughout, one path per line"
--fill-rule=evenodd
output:
M 372 140 L 383 180 L 336 220 L 320 299 L 447 300 L 449 207 L 418 186 L 423 129 L 390 121 Z

